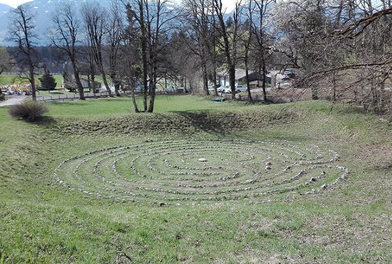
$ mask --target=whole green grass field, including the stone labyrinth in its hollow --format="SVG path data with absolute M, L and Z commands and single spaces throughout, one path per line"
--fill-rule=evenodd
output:
M 391 263 L 392 125 L 328 102 L 0 108 L 0 263 Z

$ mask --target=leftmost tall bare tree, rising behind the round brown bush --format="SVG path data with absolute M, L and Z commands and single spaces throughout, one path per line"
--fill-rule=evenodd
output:
M 8 29 L 8 41 L 16 44 L 13 57 L 17 64 L 21 66 L 21 70 L 27 68 L 28 81 L 30 82 L 32 91 L 32 100 L 37 100 L 35 87 L 35 69 L 39 66 L 39 58 L 35 50 L 35 14 L 32 13 L 32 7 L 29 5 L 21 5 L 12 10 L 12 19 Z

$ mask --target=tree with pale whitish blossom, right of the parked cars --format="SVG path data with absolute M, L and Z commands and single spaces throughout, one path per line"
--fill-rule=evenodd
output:
M 320 95 L 322 76 L 315 79 L 315 73 L 340 63 L 340 43 L 329 39 L 334 20 L 327 16 L 329 8 L 324 1 L 297 0 L 281 3 L 274 10 L 275 35 L 280 38 L 275 42 L 275 49 L 286 55 L 286 65 L 300 70 L 301 76 L 295 84 L 298 88 L 311 88 L 312 98 Z M 281 12 L 279 17 L 277 14 Z M 339 48 L 340 47 L 340 48 Z M 328 81 L 326 81 L 328 82 Z

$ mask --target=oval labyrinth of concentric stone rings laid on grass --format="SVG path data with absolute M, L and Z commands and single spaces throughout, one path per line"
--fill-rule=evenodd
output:
M 279 140 L 144 141 L 64 160 L 63 187 L 157 205 L 317 194 L 347 177 L 335 151 Z

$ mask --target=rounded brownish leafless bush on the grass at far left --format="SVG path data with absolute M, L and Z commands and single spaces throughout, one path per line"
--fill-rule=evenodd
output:
M 12 117 L 21 118 L 31 122 L 39 120 L 43 113 L 46 112 L 48 112 L 46 106 L 32 100 L 23 100 L 21 103 L 11 106 L 9 111 Z

